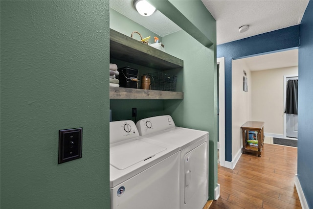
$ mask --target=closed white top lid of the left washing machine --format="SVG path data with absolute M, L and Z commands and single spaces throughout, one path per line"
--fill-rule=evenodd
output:
M 119 170 L 123 170 L 164 150 L 166 150 L 165 147 L 156 144 L 130 139 L 123 143 L 111 144 L 110 164 Z

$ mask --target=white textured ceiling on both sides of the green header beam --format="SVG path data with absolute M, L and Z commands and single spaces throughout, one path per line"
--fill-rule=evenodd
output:
M 300 24 L 309 0 L 202 0 L 215 18 L 217 44 Z M 133 0 L 110 0 L 110 7 L 164 37 L 180 30 L 159 11 L 149 17 L 139 15 Z M 239 33 L 240 26 L 249 30 Z

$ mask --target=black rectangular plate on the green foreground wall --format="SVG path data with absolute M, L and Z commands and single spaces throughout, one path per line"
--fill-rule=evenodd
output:
M 59 164 L 82 157 L 83 128 L 59 130 Z

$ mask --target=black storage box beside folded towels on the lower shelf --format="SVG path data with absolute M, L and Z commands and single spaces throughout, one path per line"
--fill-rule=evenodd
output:
M 138 89 L 138 70 L 130 67 L 119 68 L 119 86 Z

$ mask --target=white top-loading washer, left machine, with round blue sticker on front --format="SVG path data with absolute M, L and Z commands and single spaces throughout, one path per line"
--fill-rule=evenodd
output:
M 110 122 L 111 209 L 178 209 L 179 149 L 139 136 L 132 120 Z

